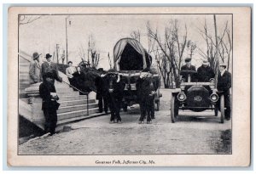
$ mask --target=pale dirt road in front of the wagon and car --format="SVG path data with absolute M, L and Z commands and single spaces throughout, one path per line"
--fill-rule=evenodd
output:
M 73 123 L 73 130 L 23 143 L 20 154 L 226 154 L 231 153 L 231 121 L 220 124 L 213 111 L 181 111 L 171 123 L 168 90 L 161 90 L 160 111 L 152 124 L 138 124 L 139 108 Z

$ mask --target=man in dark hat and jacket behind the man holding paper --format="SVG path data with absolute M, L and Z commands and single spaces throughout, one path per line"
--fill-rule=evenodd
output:
M 51 61 L 51 57 L 52 55 L 50 55 L 49 53 L 46 54 L 46 62 L 42 64 L 41 76 L 44 76 L 44 74 L 46 74 L 47 72 L 51 72 L 53 73 L 55 80 L 61 82 L 62 78 L 61 76 L 59 76 L 58 66 Z

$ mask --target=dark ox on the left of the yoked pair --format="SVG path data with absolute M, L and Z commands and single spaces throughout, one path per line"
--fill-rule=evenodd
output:
M 119 109 L 122 104 L 125 83 L 123 83 L 123 81 L 120 79 L 120 76 L 115 72 L 108 72 L 106 76 L 103 77 L 104 86 L 107 92 L 108 107 L 111 111 L 111 123 L 121 123 L 122 121 L 119 114 Z

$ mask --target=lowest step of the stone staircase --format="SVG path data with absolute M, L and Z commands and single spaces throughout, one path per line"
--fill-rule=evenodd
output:
M 88 114 L 96 113 L 98 110 L 99 110 L 98 108 L 88 109 Z M 71 112 L 65 112 L 65 113 L 58 114 L 58 121 L 78 117 L 81 115 L 87 115 L 87 110 L 82 109 L 82 110 L 75 110 L 75 111 L 71 111 Z

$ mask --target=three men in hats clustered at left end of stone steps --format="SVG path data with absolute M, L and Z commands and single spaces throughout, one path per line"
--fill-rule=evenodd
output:
M 43 81 L 39 86 L 39 94 L 43 99 L 42 109 L 44 111 L 44 131 L 53 135 L 55 133 L 55 127 L 57 123 L 56 110 L 60 104 L 57 103 L 59 97 L 55 90 L 55 80 L 62 81 L 61 76 L 58 73 L 58 66 L 52 62 L 52 55 L 47 53 L 45 59 L 47 60 L 40 65 L 40 55 L 33 53 L 32 61 L 29 66 L 30 83 L 38 83 Z

